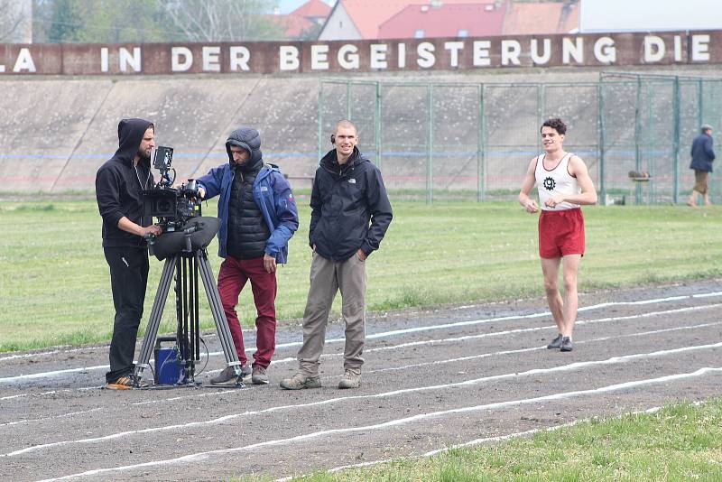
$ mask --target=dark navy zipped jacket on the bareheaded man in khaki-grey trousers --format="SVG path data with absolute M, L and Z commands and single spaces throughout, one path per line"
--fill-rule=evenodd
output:
M 320 161 L 310 195 L 310 246 L 333 261 L 346 261 L 360 248 L 378 249 L 393 213 L 381 171 L 358 149 L 338 164 L 336 149 Z

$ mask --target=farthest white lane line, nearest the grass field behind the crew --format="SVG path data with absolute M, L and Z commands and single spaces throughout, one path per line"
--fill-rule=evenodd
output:
M 667 298 L 652 298 L 649 300 L 640 300 L 640 301 L 607 301 L 604 303 L 598 303 L 595 305 L 580 307 L 578 311 L 590 311 L 590 310 L 599 310 L 601 308 L 607 308 L 610 306 L 636 306 L 636 305 L 646 305 L 646 304 L 656 304 L 656 303 L 664 303 L 664 302 L 670 302 L 670 301 L 680 301 L 680 300 L 688 300 L 688 299 L 695 299 L 695 298 L 711 298 L 711 297 L 717 297 L 722 296 L 722 292 L 704 292 L 704 293 L 694 293 L 694 294 L 685 294 L 685 295 L 679 295 L 679 296 L 670 296 Z M 465 321 L 461 323 L 466 324 L 478 324 L 478 323 L 485 323 L 485 322 L 492 322 L 492 321 L 503 321 L 503 320 L 521 320 L 521 319 L 532 319 L 532 318 L 541 318 L 544 316 L 551 316 L 550 311 L 542 311 L 538 313 L 532 313 L 529 315 L 509 315 L 504 317 L 498 317 L 498 318 L 492 318 L 492 319 L 486 319 L 486 320 L 471 320 L 471 321 Z M 441 328 L 449 328 L 449 327 L 455 327 L 455 326 L 464 326 L 463 324 L 456 324 L 452 323 L 450 325 L 431 325 L 430 327 L 418 327 L 415 329 L 399 329 L 399 330 L 393 330 L 393 331 L 386 331 L 384 333 L 377 333 L 377 334 L 371 334 L 366 335 L 366 339 L 371 338 L 383 338 L 386 336 L 393 336 L 397 334 L 404 334 L 404 333 L 412 333 L 413 331 L 422 331 L 424 328 L 431 328 L 431 327 L 440 327 L 436 329 Z M 244 332 L 247 333 L 255 333 L 254 329 L 244 329 Z M 209 336 L 213 336 L 213 334 L 210 334 Z M 345 338 L 331 338 L 327 339 L 326 343 L 338 343 L 345 341 Z M 289 343 L 280 343 L 276 345 L 276 348 L 290 348 L 290 347 L 299 347 L 301 346 L 301 342 L 294 341 Z M 32 358 L 32 357 L 46 357 L 50 354 L 55 353 L 71 353 L 81 350 L 96 350 L 99 348 L 107 349 L 108 346 L 103 347 L 88 347 L 88 348 L 71 348 L 66 350 L 58 350 L 54 349 L 51 351 L 45 351 L 45 352 L 33 352 L 33 353 L 25 353 L 21 355 L 11 355 L 9 357 L 0 357 L 0 362 L 6 361 L 6 360 L 12 360 L 15 358 Z M 250 353 L 251 349 L 245 350 L 246 353 Z M 213 352 L 212 355 L 222 355 L 223 352 Z

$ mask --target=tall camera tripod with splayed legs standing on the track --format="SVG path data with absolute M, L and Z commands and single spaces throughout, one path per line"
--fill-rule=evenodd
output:
M 175 273 L 175 294 L 176 294 L 176 319 L 178 320 L 178 328 L 176 331 L 176 342 L 180 352 L 180 361 L 183 369 L 182 384 L 179 385 L 199 385 L 195 382 L 195 364 L 200 359 L 200 330 L 199 330 L 199 283 L 198 274 L 203 282 L 206 295 L 208 296 L 208 304 L 216 322 L 218 329 L 218 338 L 223 348 L 223 354 L 226 357 L 227 366 L 233 366 L 236 373 L 236 387 L 243 388 L 243 375 L 241 373 L 241 362 L 238 360 L 236 346 L 233 344 L 230 329 L 228 328 L 228 320 L 226 313 L 223 311 L 223 305 L 220 301 L 220 294 L 213 273 L 208 262 L 208 251 L 205 246 L 193 247 L 191 244 L 191 235 L 199 230 L 199 226 L 195 225 L 184 229 L 181 232 L 171 233 L 178 239 L 182 234 L 182 247 L 179 251 L 165 258 L 161 281 L 158 283 L 158 291 L 155 293 L 153 301 L 153 310 L 151 311 L 148 327 L 143 337 L 143 346 L 141 348 L 138 361 L 135 364 L 135 384 L 140 385 L 143 369 L 150 368 L 149 360 L 153 353 L 153 343 L 158 335 L 158 328 L 161 324 L 162 312 L 165 301 L 168 298 L 168 292 L 171 288 L 171 281 Z M 215 235 L 215 233 L 214 233 Z M 162 235 L 168 236 L 168 235 Z M 169 236 L 170 237 L 170 236 Z M 151 255 L 153 255 L 153 242 L 149 243 Z M 160 339 L 160 338 L 159 338 Z

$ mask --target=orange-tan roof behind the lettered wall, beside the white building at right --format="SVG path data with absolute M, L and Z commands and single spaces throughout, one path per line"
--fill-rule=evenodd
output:
M 569 33 L 575 29 L 579 29 L 579 4 L 513 3 L 504 20 L 504 35 Z

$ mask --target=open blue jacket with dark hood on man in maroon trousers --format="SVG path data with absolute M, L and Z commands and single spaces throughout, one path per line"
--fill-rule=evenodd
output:
M 261 156 L 260 139 L 258 139 L 255 129 L 237 129 L 228 138 L 226 144 L 228 163 L 211 169 L 208 174 L 197 180 L 200 187 L 206 191 L 205 199 L 220 195 L 218 218 L 221 222 L 220 229 L 218 229 L 218 255 L 222 258 L 226 257 L 228 201 L 234 178 L 230 145 L 243 147 L 251 152 L 252 157 L 259 156 L 260 158 Z M 283 177 L 278 166 L 264 164 L 264 167 L 258 172 L 254 181 L 254 199 L 271 231 L 271 236 L 268 237 L 265 244 L 265 254 L 275 257 L 276 263 L 284 264 L 288 259 L 288 241 L 299 228 L 299 214 L 291 185 Z

